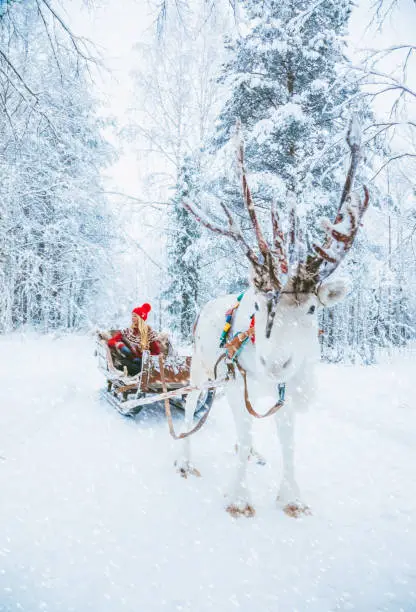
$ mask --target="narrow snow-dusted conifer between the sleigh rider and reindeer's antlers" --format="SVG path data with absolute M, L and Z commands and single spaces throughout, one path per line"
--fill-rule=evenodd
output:
M 168 276 L 169 287 L 163 297 L 168 300 L 169 328 L 189 341 L 192 325 L 198 311 L 200 284 L 200 252 L 198 240 L 200 228 L 195 219 L 183 207 L 184 199 L 198 198 L 195 180 L 197 167 L 187 157 L 184 160 L 169 214 Z

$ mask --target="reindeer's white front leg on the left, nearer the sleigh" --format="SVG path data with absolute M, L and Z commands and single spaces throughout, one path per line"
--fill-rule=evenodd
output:
M 229 382 L 227 388 L 228 403 L 233 411 L 234 421 L 238 438 L 238 465 L 235 481 L 229 495 L 227 512 L 231 516 L 254 516 L 255 510 L 250 501 L 247 488 L 247 462 L 250 456 L 251 440 L 251 417 L 242 404 L 243 389 L 240 381 Z

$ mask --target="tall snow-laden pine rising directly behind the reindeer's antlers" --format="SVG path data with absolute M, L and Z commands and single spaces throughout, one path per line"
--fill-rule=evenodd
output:
M 341 78 L 350 0 L 243 0 L 245 33 L 229 44 L 222 81 L 231 89 L 219 118 L 214 149 L 232 136 L 240 118 L 256 202 L 272 199 L 285 213 L 305 216 L 339 198 L 343 147 L 353 93 Z M 227 177 L 214 189 L 241 201 Z M 238 204 L 237 204 L 238 206 Z M 321 211 L 320 211 L 321 212 Z

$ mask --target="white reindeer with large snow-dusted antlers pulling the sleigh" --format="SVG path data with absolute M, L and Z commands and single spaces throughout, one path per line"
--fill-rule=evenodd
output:
M 244 294 L 232 323 L 232 331 L 242 332 L 249 327 L 255 313 L 255 343 L 247 342 L 238 357 L 241 371 L 246 373 L 248 392 L 261 386 L 263 396 L 277 398 L 279 383 L 286 385 L 286 400 L 275 414 L 277 431 L 283 456 L 283 477 L 278 502 L 291 516 L 307 513 L 301 501 L 294 472 L 295 412 L 306 407 L 314 388 L 313 364 L 319 357 L 317 308 L 332 306 L 346 294 L 340 280 L 327 280 L 350 249 L 368 206 L 368 192 L 364 202 L 351 194 L 360 153 L 359 131 L 351 123 L 347 135 L 351 149 L 351 165 L 347 174 L 341 203 L 334 224 L 326 221 L 326 241 L 322 247 L 314 245 L 314 254 L 300 261 L 288 271 L 283 234 L 277 214 L 272 210 L 273 244 L 269 246 L 261 231 L 250 189 L 246 180 L 243 142 L 238 145 L 238 163 L 241 171 L 243 196 L 260 255 L 248 245 L 228 208 L 222 205 L 228 219 L 228 228 L 220 227 L 202 216 L 190 202 L 184 205 L 202 224 L 218 234 L 232 238 L 241 246 L 250 261 L 252 274 L 250 287 Z M 289 272 L 289 273 L 288 273 Z M 286 280 L 285 280 L 286 277 Z M 201 385 L 214 378 L 214 364 L 223 349 L 219 348 L 219 335 L 224 325 L 224 313 L 235 302 L 227 295 L 209 302 L 201 311 L 195 329 L 191 382 Z M 232 408 L 238 436 L 238 469 L 230 493 L 227 511 L 232 515 L 252 516 L 246 482 L 247 461 L 253 453 L 252 417 L 244 402 L 244 384 L 240 372 L 226 386 L 228 403 Z M 186 402 L 185 427 L 192 426 L 198 391 L 192 392 Z M 176 462 L 182 476 L 199 475 L 191 460 L 190 437 L 184 438 L 182 452 Z

